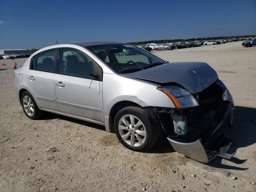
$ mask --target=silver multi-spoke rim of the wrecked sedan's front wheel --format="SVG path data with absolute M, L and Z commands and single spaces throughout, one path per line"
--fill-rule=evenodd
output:
M 118 130 L 122 140 L 130 146 L 139 147 L 146 141 L 147 133 L 145 126 L 136 116 L 123 116 L 119 120 Z

